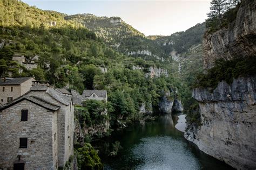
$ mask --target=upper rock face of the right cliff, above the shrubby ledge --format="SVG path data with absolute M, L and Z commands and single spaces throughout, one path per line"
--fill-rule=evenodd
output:
M 230 60 L 256 54 L 256 10 L 254 0 L 245 0 L 237 18 L 225 29 L 206 34 L 203 40 L 204 67 L 213 67 L 216 59 Z

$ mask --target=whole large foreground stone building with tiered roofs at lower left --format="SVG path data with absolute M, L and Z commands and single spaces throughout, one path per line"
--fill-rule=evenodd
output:
M 72 96 L 33 82 L 0 108 L 0 169 L 58 169 L 73 155 Z

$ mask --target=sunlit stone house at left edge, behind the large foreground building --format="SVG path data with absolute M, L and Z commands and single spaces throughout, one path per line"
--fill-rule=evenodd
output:
M 0 79 L 0 104 L 5 104 L 30 90 L 33 77 L 5 77 Z

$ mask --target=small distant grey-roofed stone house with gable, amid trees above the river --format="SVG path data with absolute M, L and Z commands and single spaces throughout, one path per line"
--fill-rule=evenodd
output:
M 107 102 L 106 90 L 84 90 L 80 95 L 76 90 L 71 90 L 73 103 L 76 105 L 82 105 L 86 100 L 97 100 Z

